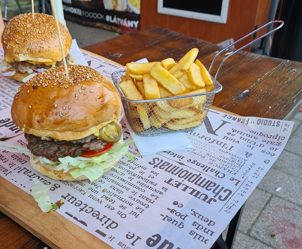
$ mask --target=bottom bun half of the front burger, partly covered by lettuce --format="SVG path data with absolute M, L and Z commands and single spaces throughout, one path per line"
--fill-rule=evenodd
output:
M 33 160 L 35 160 L 36 157 L 33 156 Z M 118 162 L 118 160 L 114 163 L 114 165 Z M 39 173 L 41 173 L 42 175 L 48 176 L 54 180 L 62 180 L 62 181 L 81 181 L 81 180 L 85 180 L 88 179 L 88 177 L 86 177 L 85 175 L 81 175 L 77 178 L 74 178 L 69 172 L 74 170 L 74 169 L 78 169 L 78 168 L 74 168 L 74 169 L 70 169 L 67 172 L 64 173 L 64 170 L 55 170 L 55 167 L 57 166 L 55 165 L 50 165 L 50 164 L 42 164 L 40 163 L 40 161 L 37 162 L 31 162 L 30 163 L 31 167 L 33 169 L 35 169 L 36 171 L 38 171 Z M 112 166 L 114 166 L 112 165 Z M 111 167 L 107 167 L 104 169 L 103 173 L 106 173 L 108 170 L 110 170 Z

